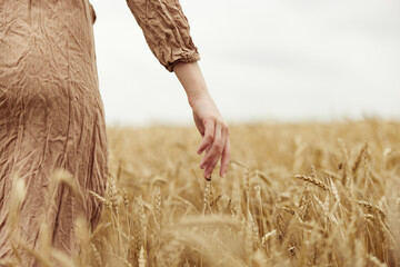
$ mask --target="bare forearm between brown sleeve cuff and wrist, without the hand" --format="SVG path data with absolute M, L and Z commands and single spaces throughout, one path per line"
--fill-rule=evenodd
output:
M 196 100 L 209 97 L 204 77 L 200 66 L 194 62 L 179 62 L 174 66 L 173 72 L 182 85 L 188 96 L 189 105 L 192 107 Z

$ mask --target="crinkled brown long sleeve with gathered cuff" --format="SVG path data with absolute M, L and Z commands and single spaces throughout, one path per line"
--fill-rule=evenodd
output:
M 127 0 L 127 3 L 150 50 L 168 71 L 172 72 L 180 61 L 200 60 L 179 0 Z

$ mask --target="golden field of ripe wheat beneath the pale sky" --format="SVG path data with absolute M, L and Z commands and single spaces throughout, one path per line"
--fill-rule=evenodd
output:
M 400 122 L 230 132 L 228 174 L 218 166 L 207 181 L 194 127 L 109 128 L 99 227 L 77 221 L 71 257 L 31 255 L 42 266 L 400 266 Z

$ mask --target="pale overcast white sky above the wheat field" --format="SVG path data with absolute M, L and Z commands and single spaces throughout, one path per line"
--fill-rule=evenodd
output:
M 126 0 L 90 0 L 109 125 L 190 125 Z M 228 122 L 400 120 L 400 1 L 180 0 Z

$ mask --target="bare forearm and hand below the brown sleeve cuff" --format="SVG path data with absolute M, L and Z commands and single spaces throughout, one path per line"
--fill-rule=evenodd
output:
M 220 176 L 227 174 L 230 159 L 229 127 L 212 100 L 198 62 L 178 62 L 173 69 L 188 95 L 193 119 L 202 140 L 198 154 L 206 150 L 200 162 L 204 178 L 211 174 L 221 158 Z

